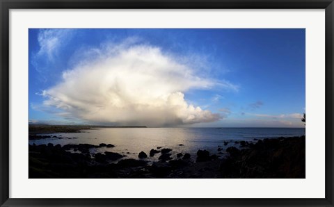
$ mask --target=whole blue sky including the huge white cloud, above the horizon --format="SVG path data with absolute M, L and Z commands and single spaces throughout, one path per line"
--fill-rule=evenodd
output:
M 305 29 L 29 29 L 29 122 L 303 127 Z

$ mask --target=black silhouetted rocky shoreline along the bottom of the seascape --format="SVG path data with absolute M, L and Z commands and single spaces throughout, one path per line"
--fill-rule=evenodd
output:
M 90 152 L 113 144 L 29 144 L 29 179 L 305 178 L 305 136 L 255 140 L 238 142 L 239 148 L 218 146 L 218 154 L 226 154 L 223 158 L 205 149 L 199 149 L 196 157 L 178 153 L 172 158 L 173 149 L 157 147 L 134 159 L 110 151 Z M 159 161 L 148 162 L 153 156 Z

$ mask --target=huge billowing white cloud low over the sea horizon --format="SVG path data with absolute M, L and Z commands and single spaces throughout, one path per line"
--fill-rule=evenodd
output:
M 108 47 L 93 53 L 90 60 L 63 72 L 61 83 L 43 91 L 45 106 L 89 123 L 175 126 L 221 118 L 188 104 L 184 92 L 234 87 L 196 75 L 192 67 L 158 47 Z

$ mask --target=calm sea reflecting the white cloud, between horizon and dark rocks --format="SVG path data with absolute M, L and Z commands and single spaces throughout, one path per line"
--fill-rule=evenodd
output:
M 196 157 L 201 149 L 211 154 L 224 156 L 228 147 L 240 147 L 239 142 L 257 142 L 258 139 L 293 137 L 305 135 L 304 128 L 95 128 L 81 133 L 52 133 L 57 138 L 29 140 L 29 144 L 113 144 L 115 147 L 90 149 L 91 154 L 104 151 L 117 152 L 124 158 L 138 158 L 144 151 L 149 156 L 151 149 L 170 148 L 173 158 L 178 153 Z M 224 145 L 224 142 L 228 142 Z M 220 150 L 218 150 L 220 148 Z M 72 153 L 79 153 L 71 151 Z M 159 155 L 148 158 L 157 161 Z

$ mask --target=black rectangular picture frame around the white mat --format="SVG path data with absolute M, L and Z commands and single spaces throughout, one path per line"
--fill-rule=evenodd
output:
M 333 0 L 0 0 L 0 204 L 1 206 L 333 206 Z M 326 198 L 324 199 L 13 199 L 9 198 L 9 10 L 10 9 L 325 9 Z

